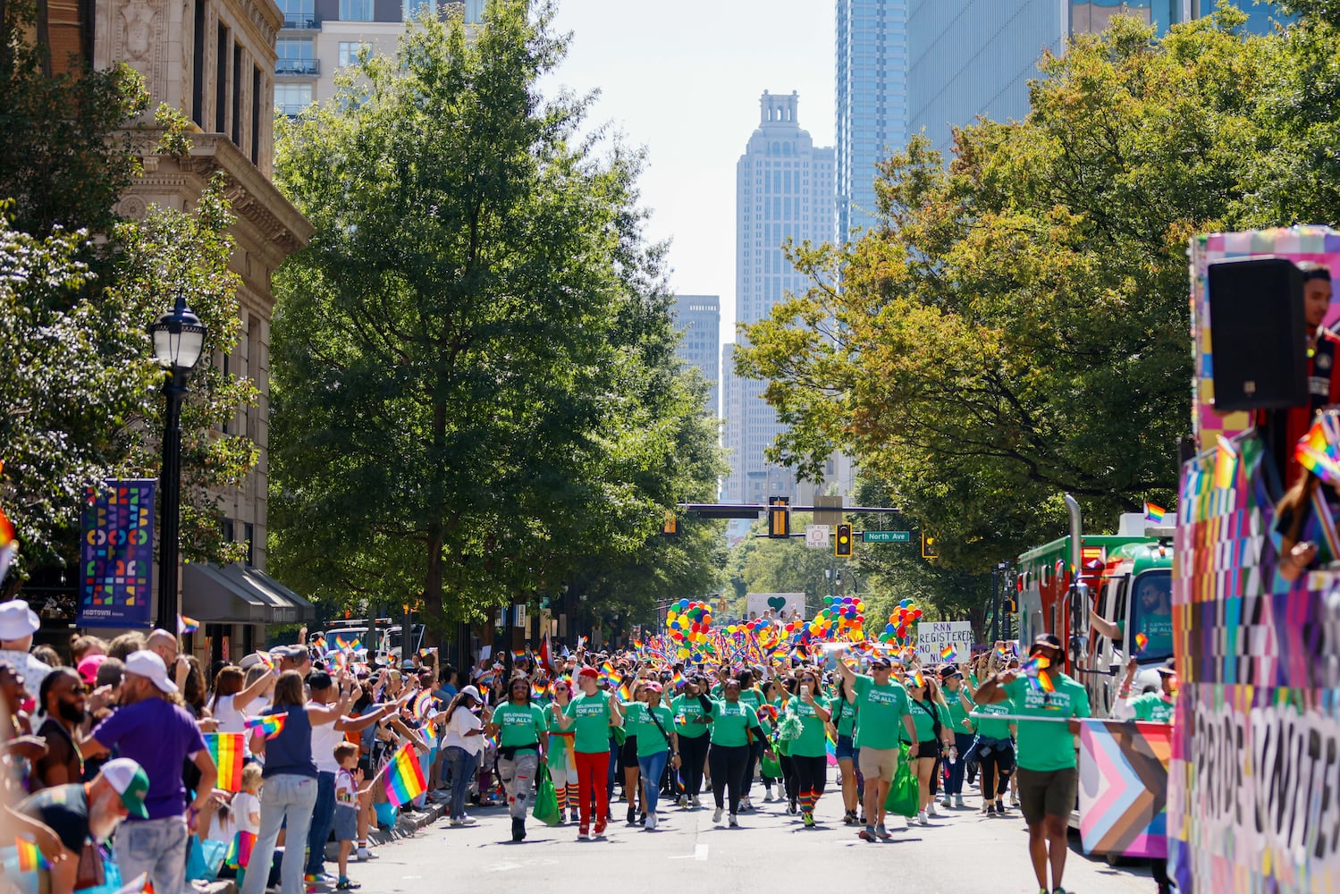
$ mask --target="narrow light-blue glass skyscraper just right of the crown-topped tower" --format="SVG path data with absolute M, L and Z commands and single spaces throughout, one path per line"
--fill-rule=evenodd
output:
M 836 0 L 838 241 L 870 227 L 875 164 L 907 142 L 907 3 Z

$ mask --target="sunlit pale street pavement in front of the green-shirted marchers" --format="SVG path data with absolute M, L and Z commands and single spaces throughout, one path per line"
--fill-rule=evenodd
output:
M 898 830 L 894 839 L 871 844 L 856 828 L 842 824 L 842 800 L 832 789 L 819 804 L 821 826 L 805 831 L 785 804 L 754 804 L 761 810 L 741 815 L 737 830 L 712 823 L 710 796 L 694 811 L 662 811 L 654 832 L 615 822 L 607 840 L 578 842 L 576 826 L 547 828 L 528 823 L 528 838 L 511 842 L 501 807 L 476 808 L 480 823 L 449 828 L 445 820 L 377 848 L 378 859 L 350 865 L 350 877 L 364 891 L 393 893 L 454 890 L 462 879 L 484 891 L 543 891 L 553 885 L 579 885 L 583 891 L 765 891 L 846 890 L 895 883 L 917 894 L 996 894 L 1037 890 L 1028 865 L 1026 836 L 1018 811 L 988 819 L 970 807 L 931 819 L 930 827 Z M 614 815 L 627 807 L 618 802 Z M 1103 859 L 1079 852 L 1072 835 L 1065 889 L 1081 894 L 1152 891 L 1147 865 L 1110 867 Z M 332 867 L 334 869 L 334 867 Z

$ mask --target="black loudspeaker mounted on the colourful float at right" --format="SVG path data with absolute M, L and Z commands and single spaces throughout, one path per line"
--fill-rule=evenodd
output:
M 1302 271 L 1285 257 L 1219 261 L 1209 285 L 1215 411 L 1306 405 Z

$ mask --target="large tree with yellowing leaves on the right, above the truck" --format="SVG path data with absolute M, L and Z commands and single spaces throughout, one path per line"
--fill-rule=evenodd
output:
M 1190 429 L 1186 245 L 1244 220 L 1278 40 L 1241 20 L 1156 42 L 1115 19 L 1043 59 L 1024 121 L 958 130 L 947 169 L 921 137 L 894 155 L 880 225 L 796 248 L 813 288 L 736 353 L 791 426 L 775 456 L 812 474 L 848 450 L 977 572 L 1057 536 L 1061 492 L 1092 528 L 1168 499 Z

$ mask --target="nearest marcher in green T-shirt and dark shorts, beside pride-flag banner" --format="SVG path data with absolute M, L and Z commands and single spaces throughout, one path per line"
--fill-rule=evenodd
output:
M 1021 676 L 1005 670 L 982 682 L 977 704 L 1009 700 L 1018 721 L 1018 791 L 1028 822 L 1028 851 L 1043 891 L 1064 894 L 1061 877 L 1069 848 L 1067 831 L 1079 791 L 1075 736 L 1079 720 L 1089 716 L 1084 686 L 1061 673 L 1061 641 L 1043 634 L 1029 649 Z M 1047 885 L 1051 863 L 1052 886 Z

